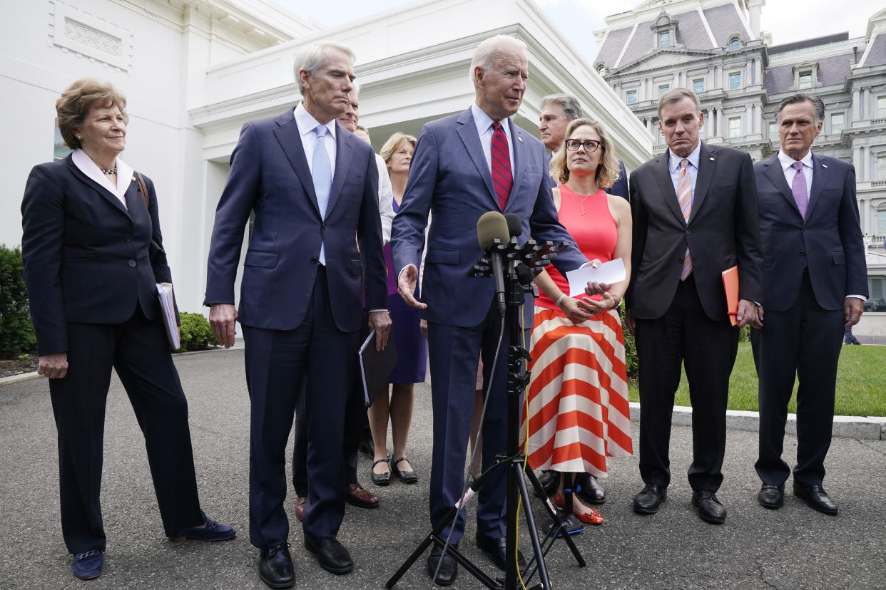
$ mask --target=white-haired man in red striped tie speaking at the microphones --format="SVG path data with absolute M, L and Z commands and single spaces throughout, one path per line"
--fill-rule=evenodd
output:
M 484 382 L 494 382 L 482 425 L 484 468 L 493 463 L 506 441 L 508 335 L 494 364 L 501 316 L 493 280 L 468 277 L 471 265 L 481 256 L 474 232 L 478 218 L 487 211 L 515 213 L 523 221 L 523 236 L 572 242 L 557 221 L 544 146 L 509 119 L 523 100 L 527 67 L 525 45 L 513 37 L 498 35 L 478 46 L 470 70 L 475 103 L 467 111 L 423 127 L 403 203 L 393 222 L 392 258 L 394 268 L 399 269 L 400 295 L 422 309 L 428 322 L 434 412 L 432 525 L 442 524 L 462 493 L 479 356 Z M 424 301 L 419 302 L 413 294 L 429 212 L 433 221 L 424 260 Z M 556 265 L 566 272 L 586 262 L 571 246 Z M 477 507 L 478 546 L 501 569 L 505 563 L 504 475 L 499 470 L 480 489 Z M 451 542 L 458 543 L 463 532 L 460 516 Z M 447 525 L 443 535 L 448 533 Z M 431 549 L 428 572 L 433 575 L 439 564 L 436 581 L 447 585 L 457 570 L 449 554 L 441 557 L 441 549 Z

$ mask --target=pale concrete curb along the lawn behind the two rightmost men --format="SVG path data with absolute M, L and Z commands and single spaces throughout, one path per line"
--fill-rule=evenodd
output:
M 631 402 L 631 421 L 640 422 L 640 404 Z M 692 408 L 674 406 L 672 425 L 692 425 Z M 759 412 L 747 410 L 727 410 L 727 428 L 734 430 L 758 431 L 760 427 Z M 797 414 L 788 414 L 785 433 L 797 434 Z M 867 441 L 886 440 L 886 418 L 874 416 L 835 416 L 831 436 L 843 439 L 859 439 Z

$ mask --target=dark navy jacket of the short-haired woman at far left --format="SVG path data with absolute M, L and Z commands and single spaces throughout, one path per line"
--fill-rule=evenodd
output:
M 135 178 L 124 207 L 70 155 L 31 170 L 21 203 L 21 255 L 38 354 L 68 350 L 69 322 L 121 324 L 136 304 L 146 318 L 157 318 L 156 283 L 172 282 L 172 272 L 154 185 L 144 182 L 150 210 Z

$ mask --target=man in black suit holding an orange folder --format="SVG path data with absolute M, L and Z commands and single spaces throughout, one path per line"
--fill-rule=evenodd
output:
M 699 140 L 698 97 L 673 88 L 658 101 L 668 145 L 631 174 L 633 251 L 626 321 L 640 369 L 640 474 L 633 499 L 653 514 L 671 480 L 673 399 L 686 368 L 692 402 L 693 462 L 688 479 L 698 516 L 726 520 L 716 492 L 723 480 L 729 374 L 738 327 L 757 322 L 763 300 L 757 191 L 750 157 Z M 738 326 L 731 326 L 720 276 L 738 264 Z

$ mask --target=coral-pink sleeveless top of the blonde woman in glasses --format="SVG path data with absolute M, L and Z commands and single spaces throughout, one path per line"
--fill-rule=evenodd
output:
M 615 219 L 609 209 L 606 193 L 601 189 L 594 195 L 578 195 L 572 192 L 566 185 L 560 188 L 560 223 L 566 228 L 575 240 L 576 246 L 588 260 L 599 259 L 600 262 L 609 262 L 615 252 L 615 244 L 618 239 Z M 554 268 L 553 264 L 545 267 L 551 279 L 557 287 L 566 295 L 569 295 L 569 282 Z M 595 297 L 599 299 L 599 296 Z M 540 293 L 535 300 L 536 305 L 548 308 L 548 310 L 560 310 L 548 295 Z

